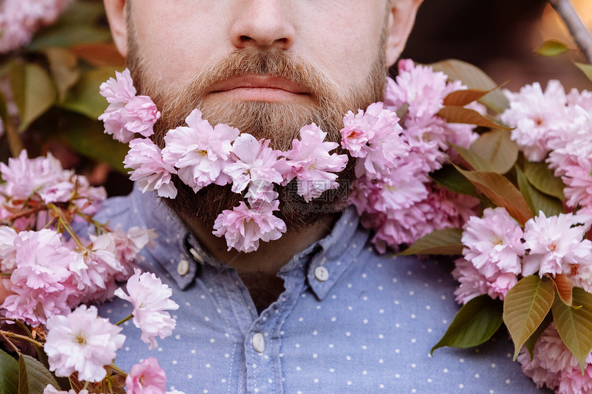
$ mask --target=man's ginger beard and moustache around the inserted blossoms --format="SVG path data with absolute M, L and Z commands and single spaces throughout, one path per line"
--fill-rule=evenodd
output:
M 167 131 L 184 125 L 189 113 L 198 108 L 203 118 L 212 125 L 229 124 L 257 139 L 271 140 L 273 149 L 287 151 L 293 138 L 299 138 L 299 130 L 313 122 L 327 133 L 326 140 L 340 143 L 343 116 L 350 110 L 366 109 L 372 102 L 383 100 L 386 76 L 384 53 L 384 43 L 381 43 L 377 59 L 364 83 L 348 91 L 332 83 L 317 67 L 294 58 L 284 50 L 261 50 L 257 47 L 236 50 L 220 63 L 196 74 L 181 89 L 171 89 L 151 78 L 134 34 L 131 34 L 127 66 L 138 94 L 150 96 L 162 112 L 154 127 L 154 142 L 161 149 Z M 313 105 L 214 100 L 206 94 L 214 83 L 252 74 L 285 78 L 299 84 L 312 94 Z M 337 153 L 346 151 L 339 147 Z M 295 193 L 295 180 L 287 186 L 276 186 L 279 211 L 275 215 L 286 223 L 288 232 L 304 230 L 335 212 L 336 206 L 345 207 L 349 185 L 354 178 L 354 164 L 350 158 L 346 169 L 339 174 L 338 190 L 328 190 L 308 203 Z M 231 210 L 243 198 L 232 192 L 231 185 L 212 184 L 195 193 L 176 175 L 173 175 L 173 182 L 178 190 L 177 197 L 164 199 L 165 204 L 190 225 L 200 223 L 212 228 L 222 210 Z

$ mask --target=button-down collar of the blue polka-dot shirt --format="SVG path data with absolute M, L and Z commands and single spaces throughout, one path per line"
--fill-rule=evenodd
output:
M 180 289 L 186 289 L 193 282 L 200 265 L 224 267 L 224 263 L 201 248 L 183 221 L 163 206 L 156 195 L 142 194 L 139 190 L 133 193 L 134 205 L 145 217 L 147 228 L 154 228 L 158 234 L 158 245 L 148 252 Z M 295 254 L 279 270 L 279 275 L 304 270 L 308 285 L 319 300 L 323 299 L 366 245 L 368 233 L 359 230 L 358 223 L 355 209 L 344 211 L 327 237 Z

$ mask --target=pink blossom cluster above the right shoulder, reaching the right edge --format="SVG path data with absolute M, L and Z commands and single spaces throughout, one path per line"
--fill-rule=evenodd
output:
M 487 208 L 463 227 L 463 259 L 452 272 L 461 284 L 458 303 L 480 294 L 504 299 L 520 276 L 567 274 L 592 290 L 592 241 L 585 239 L 591 220 L 573 214 L 546 217 L 543 212 L 522 228 L 505 208 Z

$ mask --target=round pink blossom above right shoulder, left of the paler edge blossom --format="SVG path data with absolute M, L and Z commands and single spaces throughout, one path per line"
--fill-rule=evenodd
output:
M 505 208 L 486 208 L 463 226 L 463 256 L 487 278 L 498 273 L 520 274 L 525 254 L 524 233 Z

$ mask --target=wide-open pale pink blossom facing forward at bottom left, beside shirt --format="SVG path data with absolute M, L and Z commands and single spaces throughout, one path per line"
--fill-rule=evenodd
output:
M 97 316 L 96 307 L 81 305 L 67 316 L 47 319 L 47 338 L 44 346 L 50 370 L 57 376 L 78 372 L 78 379 L 100 382 L 116 351 L 123 347 L 125 336 L 121 328 L 106 318 Z

